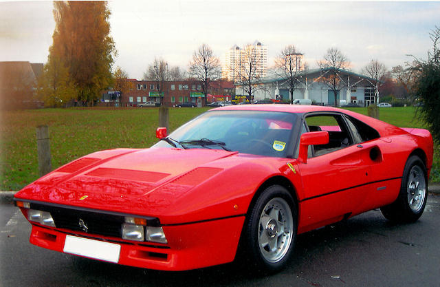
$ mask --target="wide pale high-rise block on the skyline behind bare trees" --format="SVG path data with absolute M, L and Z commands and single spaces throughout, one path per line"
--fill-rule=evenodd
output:
M 223 78 L 239 82 L 243 76 L 250 73 L 254 78 L 263 78 L 267 73 L 267 47 L 259 41 L 243 48 L 233 45 L 226 52 Z

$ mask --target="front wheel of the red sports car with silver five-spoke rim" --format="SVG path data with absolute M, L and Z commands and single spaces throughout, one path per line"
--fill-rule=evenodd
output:
M 257 198 L 245 226 L 245 257 L 256 270 L 281 270 L 294 249 L 297 213 L 292 195 L 279 185 Z

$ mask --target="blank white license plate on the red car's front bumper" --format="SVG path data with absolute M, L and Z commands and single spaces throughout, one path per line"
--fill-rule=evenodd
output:
M 119 244 L 67 235 L 63 251 L 65 253 L 118 263 L 121 246 Z

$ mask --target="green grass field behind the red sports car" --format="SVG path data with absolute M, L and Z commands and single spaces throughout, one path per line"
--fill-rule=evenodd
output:
M 208 108 L 170 109 L 170 130 Z M 352 108 L 366 114 L 366 108 Z M 116 147 L 150 147 L 157 141 L 158 108 L 33 109 L 3 111 L 0 126 L 0 190 L 19 190 L 39 178 L 36 127 L 50 127 L 52 168 L 87 153 Z M 424 127 L 413 107 L 380 109 L 380 119 L 399 127 Z M 432 181 L 440 182 L 440 151 L 435 147 Z

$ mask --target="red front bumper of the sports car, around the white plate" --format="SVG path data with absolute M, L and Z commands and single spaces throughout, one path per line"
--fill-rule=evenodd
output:
M 97 243 L 98 246 L 100 246 L 99 242 L 120 246 L 118 257 L 113 261 L 117 264 L 157 270 L 190 270 L 232 262 L 244 220 L 244 215 L 241 215 L 219 220 L 163 226 L 168 244 L 131 242 L 120 238 L 102 237 L 32 224 L 30 243 L 64 252 L 66 237 L 86 238 L 90 242 Z M 80 256 L 100 259 L 95 255 Z

